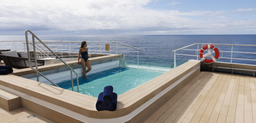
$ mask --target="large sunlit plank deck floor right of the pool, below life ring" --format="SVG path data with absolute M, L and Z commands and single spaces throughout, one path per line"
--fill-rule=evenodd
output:
M 256 78 L 200 72 L 145 123 L 256 122 Z

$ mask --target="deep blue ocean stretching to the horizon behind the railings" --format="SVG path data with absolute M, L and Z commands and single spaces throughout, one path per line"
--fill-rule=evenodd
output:
M 100 36 L 38 36 L 42 41 L 102 41 L 120 42 L 140 49 L 139 56 L 150 58 L 173 59 L 173 50 L 194 43 L 213 43 L 213 44 L 250 44 L 256 45 L 256 35 L 100 35 Z M 0 36 L 0 41 L 25 41 L 24 36 Z M 6 43 L 1 42 L 0 45 Z M 17 45 L 22 45 L 17 43 Z M 79 44 L 78 44 L 79 45 Z M 23 46 L 23 45 L 22 45 Z M 231 51 L 231 46 L 216 45 L 222 51 Z M 199 49 L 202 45 L 199 45 Z M 3 49 L 3 47 L 0 47 Z M 77 48 L 78 49 L 78 48 Z M 197 49 L 197 45 L 190 47 Z M 237 52 L 256 52 L 256 46 L 234 46 L 233 51 Z M 179 54 L 195 55 L 195 51 L 180 50 Z M 137 56 L 137 53 L 128 53 Z M 230 58 L 231 53 L 223 52 L 220 56 Z M 256 54 L 233 53 L 233 58 L 256 59 Z M 195 56 L 176 55 L 177 59 L 196 59 Z M 221 62 L 230 62 L 230 59 L 218 59 Z M 232 60 L 232 63 L 244 63 L 256 65 L 256 61 Z

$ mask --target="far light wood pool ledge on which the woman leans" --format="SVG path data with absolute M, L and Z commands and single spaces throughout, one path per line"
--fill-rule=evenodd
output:
M 97 62 L 97 61 L 103 61 L 103 60 L 108 60 L 108 59 L 114 59 L 114 58 L 119 58 L 122 57 L 123 55 L 104 55 L 104 56 L 99 56 L 99 57 L 94 57 L 94 58 L 89 58 L 90 63 L 92 62 Z M 66 62 L 70 67 L 71 66 L 76 66 L 77 65 L 77 60 L 75 61 L 68 61 Z M 49 64 L 49 65 L 43 65 L 43 66 L 39 66 L 37 67 L 39 72 L 43 72 L 43 71 L 49 71 L 49 70 L 55 70 L 55 69 L 60 69 L 60 68 L 66 68 L 67 66 L 64 63 L 56 63 L 56 64 Z M 35 67 L 34 67 L 35 68 Z M 25 69 L 14 69 L 13 75 L 16 76 L 23 76 L 23 75 L 27 75 L 27 74 L 33 74 L 35 73 L 31 68 L 25 68 Z

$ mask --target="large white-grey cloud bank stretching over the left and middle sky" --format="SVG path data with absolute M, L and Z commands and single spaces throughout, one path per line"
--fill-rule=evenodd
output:
M 227 11 L 153 10 L 150 0 L 1 0 L 0 31 L 46 34 L 172 34 L 234 27 Z M 174 2 L 173 2 L 174 3 Z M 193 16 L 214 19 L 193 19 Z M 233 25 L 232 25 L 233 24 Z M 244 23 L 247 27 L 254 23 Z M 241 25 L 237 25 L 241 26 Z M 255 27 L 255 26 L 251 26 Z M 203 32 L 203 31 L 202 31 Z

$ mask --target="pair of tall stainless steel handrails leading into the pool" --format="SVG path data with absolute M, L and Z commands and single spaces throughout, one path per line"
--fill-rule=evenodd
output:
M 30 55 L 29 55 L 29 42 L 28 42 L 28 37 L 27 37 L 27 32 L 29 32 L 32 35 L 32 40 L 33 40 L 33 49 L 34 49 L 34 54 L 36 54 L 36 48 L 35 48 L 35 38 L 41 42 L 49 51 L 51 51 L 61 62 L 63 62 L 69 69 L 70 69 L 70 73 L 71 73 L 71 86 L 72 86 L 72 91 L 74 91 L 74 86 L 73 86 L 73 74 L 72 72 L 74 72 L 76 74 L 76 79 L 77 79 L 77 92 L 79 92 L 79 83 L 78 83 L 78 74 L 75 70 L 73 70 L 66 62 L 64 62 L 56 53 L 54 53 L 48 46 L 46 46 L 34 33 L 31 32 L 31 30 L 26 30 L 25 31 L 25 36 L 26 36 L 26 45 L 27 45 L 27 55 L 28 55 L 28 64 L 29 64 L 29 68 L 31 68 L 32 70 L 34 70 L 36 72 L 36 79 L 37 81 L 39 81 L 38 78 L 38 74 L 40 74 L 42 77 L 44 77 L 46 80 L 50 81 L 54 86 L 59 87 L 58 85 L 54 84 L 50 79 L 48 79 L 47 77 L 45 77 L 41 72 L 38 71 L 37 69 L 37 61 L 36 61 L 36 55 L 35 55 L 35 67 L 36 69 L 34 69 L 31 66 L 31 60 L 30 60 Z

